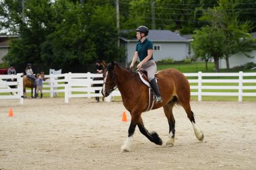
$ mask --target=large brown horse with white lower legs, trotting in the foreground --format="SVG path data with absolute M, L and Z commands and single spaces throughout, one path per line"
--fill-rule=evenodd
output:
M 130 151 L 131 138 L 135 132 L 136 126 L 139 131 L 145 135 L 151 142 L 162 145 L 162 139 L 156 132 L 148 132 L 141 118 L 142 112 L 148 108 L 149 87 L 139 81 L 137 73 L 121 67 L 117 62 L 108 64 L 103 74 L 104 85 L 102 95 L 108 96 L 116 87 L 119 89 L 123 105 L 131 114 L 131 124 L 128 130 L 128 138 L 121 147 L 121 151 Z M 158 86 L 162 95 L 162 103 L 154 103 L 153 110 L 160 107 L 164 108 L 164 114 L 169 124 L 169 135 L 166 146 L 174 145 L 175 120 L 172 114 L 172 108 L 175 104 L 181 105 L 187 117 L 192 123 L 195 136 L 198 140 L 203 140 L 203 132 L 195 124 L 195 118 L 190 106 L 190 86 L 183 73 L 175 69 L 165 69 L 156 75 Z

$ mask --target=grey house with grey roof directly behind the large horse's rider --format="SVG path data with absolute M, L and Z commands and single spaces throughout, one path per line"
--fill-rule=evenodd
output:
M 135 32 L 134 32 L 135 34 Z M 189 40 L 179 34 L 169 30 L 150 30 L 148 39 L 152 40 L 154 45 L 154 60 L 172 59 L 176 61 L 184 60 L 189 56 Z M 125 46 L 126 63 L 131 62 L 135 52 L 137 39 L 127 40 L 121 38 L 121 45 Z

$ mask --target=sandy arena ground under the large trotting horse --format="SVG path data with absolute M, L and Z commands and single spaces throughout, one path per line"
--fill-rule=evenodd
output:
M 9 108 L 13 117 L 9 117 Z M 192 101 L 199 142 L 183 108 L 174 108 L 176 140 L 158 146 L 136 128 L 131 152 L 121 153 L 129 120 L 122 102 L 64 98 L 0 100 L 0 169 L 255 169 L 256 103 Z M 162 108 L 142 115 L 165 142 Z

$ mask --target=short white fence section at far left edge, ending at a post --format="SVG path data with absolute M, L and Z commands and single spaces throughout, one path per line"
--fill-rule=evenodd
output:
M 7 79 L 17 80 L 6 81 Z M 10 86 L 13 86 L 14 88 L 11 88 Z M 20 99 L 20 104 L 23 104 L 22 74 L 0 75 L 0 99 Z

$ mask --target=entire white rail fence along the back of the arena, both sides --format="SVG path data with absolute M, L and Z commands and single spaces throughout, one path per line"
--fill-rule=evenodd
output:
M 198 101 L 203 96 L 237 96 L 238 101 L 243 101 L 244 96 L 256 97 L 256 73 L 184 73 L 191 84 L 191 95 L 197 96 Z M 9 79 L 9 75 L 2 75 L 3 79 Z M 45 75 L 47 79 L 44 81 L 43 93 L 50 93 L 51 97 L 57 96 L 57 93 L 65 94 L 65 103 L 69 102 L 72 97 L 102 97 L 100 91 L 102 87 L 92 87 L 92 84 L 102 84 L 102 80 L 95 81 L 94 77 L 102 77 L 102 74 L 93 73 L 65 73 L 59 75 Z M 18 83 L 19 82 L 19 83 Z M 22 80 L 17 81 L 19 84 Z M 2 82 L 1 82 L 2 85 Z M 23 102 L 22 87 L 17 89 L 8 89 L 6 85 L 14 85 L 14 83 L 6 82 L 3 84 L 5 90 L 0 92 L 18 92 L 18 95 L 9 98 L 19 98 Z M 30 90 L 27 90 L 30 92 Z M 1 94 L 1 93 L 0 93 Z M 113 91 L 106 101 L 110 101 L 112 97 L 121 96 L 118 89 Z M 5 96 L 0 95 L 0 99 Z

